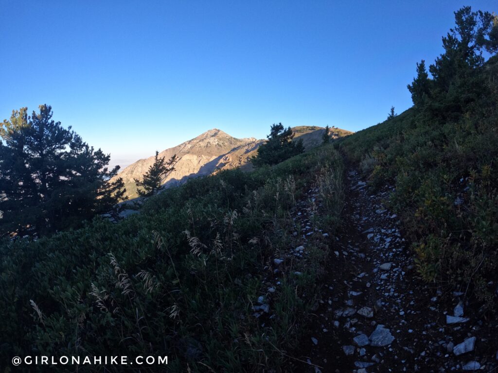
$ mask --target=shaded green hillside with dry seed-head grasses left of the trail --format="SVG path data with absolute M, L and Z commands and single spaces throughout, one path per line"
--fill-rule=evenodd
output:
M 342 172 L 333 147 L 319 147 L 190 180 L 119 223 L 3 241 L 0 361 L 36 352 L 168 355 L 171 372 L 288 366 L 282 351 L 299 345 L 328 245 L 310 241 L 307 259 L 282 266 L 273 259 L 296 247 L 290 211 L 312 185 L 322 190 L 317 227 L 334 232 Z M 279 278 L 274 292 L 266 277 Z M 269 309 L 257 318 L 260 299 Z

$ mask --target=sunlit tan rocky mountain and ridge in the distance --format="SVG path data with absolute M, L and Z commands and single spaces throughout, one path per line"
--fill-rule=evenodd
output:
M 294 139 L 302 139 L 306 150 L 314 148 L 322 142 L 324 129 L 316 126 L 293 127 Z M 341 137 L 352 132 L 331 128 L 332 137 Z M 163 150 L 159 157 L 166 160 L 174 154 L 178 157 L 175 170 L 163 180 L 166 187 L 183 184 L 192 177 L 211 175 L 218 170 L 241 167 L 252 168 L 249 160 L 256 154 L 257 148 L 265 140 L 254 137 L 237 139 L 213 128 L 194 139 L 185 141 L 173 148 Z M 134 179 L 141 179 L 154 162 L 154 156 L 140 159 L 124 168 L 118 177 L 123 178 L 126 194 L 129 198 L 137 196 Z

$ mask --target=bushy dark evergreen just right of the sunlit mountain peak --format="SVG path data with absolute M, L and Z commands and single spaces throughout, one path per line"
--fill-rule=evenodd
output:
M 254 167 L 275 165 L 304 152 L 303 141 L 292 141 L 292 129 L 284 128 L 282 123 L 272 124 L 270 134 L 266 138 L 268 140 L 257 148 L 257 155 L 251 158 Z

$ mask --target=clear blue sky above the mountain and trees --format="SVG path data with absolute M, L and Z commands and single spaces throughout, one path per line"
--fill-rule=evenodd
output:
M 0 120 L 54 119 L 115 159 L 213 127 L 357 131 L 411 106 L 406 85 L 465 4 L 488 1 L 0 0 Z

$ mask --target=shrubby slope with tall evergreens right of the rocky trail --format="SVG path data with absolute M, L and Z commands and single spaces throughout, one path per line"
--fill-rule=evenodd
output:
M 496 306 L 498 271 L 498 17 L 464 7 L 422 60 L 414 106 L 341 145 L 372 185 L 395 183 L 392 207 L 413 240 L 421 276 Z M 491 54 L 485 61 L 484 51 Z

